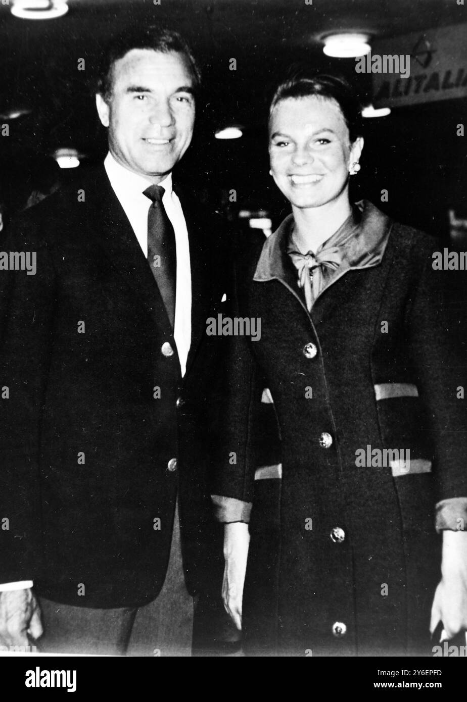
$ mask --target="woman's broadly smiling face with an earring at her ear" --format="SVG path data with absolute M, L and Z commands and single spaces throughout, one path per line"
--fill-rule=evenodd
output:
M 363 139 L 350 144 L 335 100 L 316 95 L 281 100 L 269 133 L 272 178 L 292 205 L 321 207 L 348 198 L 349 166 L 360 158 Z

